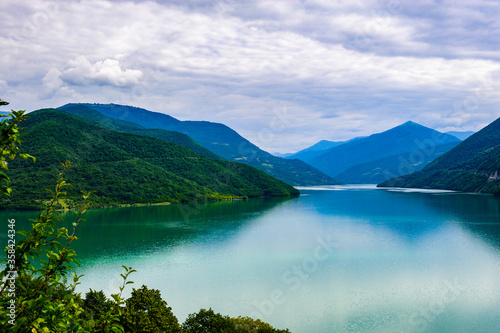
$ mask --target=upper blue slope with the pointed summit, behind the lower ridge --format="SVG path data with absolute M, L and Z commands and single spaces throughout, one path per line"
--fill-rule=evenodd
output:
M 460 140 L 409 121 L 388 131 L 331 148 L 313 158 L 310 164 L 331 177 L 336 177 L 358 164 L 414 150 L 433 150 L 437 145 L 452 142 Z

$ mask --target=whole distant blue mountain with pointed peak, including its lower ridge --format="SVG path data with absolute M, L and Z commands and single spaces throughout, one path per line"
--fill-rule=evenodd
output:
M 460 143 L 455 136 L 406 122 L 382 133 L 355 138 L 326 150 L 302 151 L 302 158 L 346 183 L 373 183 L 421 170 Z

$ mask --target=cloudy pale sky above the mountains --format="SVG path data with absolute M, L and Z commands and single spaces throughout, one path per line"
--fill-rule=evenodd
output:
M 500 1 L 0 2 L 0 98 L 116 103 L 296 152 L 500 117 Z M 2 110 L 6 110 L 5 108 Z

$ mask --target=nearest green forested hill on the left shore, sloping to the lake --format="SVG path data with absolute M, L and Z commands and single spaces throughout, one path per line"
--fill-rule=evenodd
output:
M 16 159 L 9 164 L 14 195 L 2 198 L 1 207 L 40 207 L 65 160 L 74 162 L 67 179 L 75 189 L 61 203 L 69 206 L 78 201 L 80 190 L 96 191 L 94 207 L 298 195 L 293 187 L 247 165 L 109 130 L 59 110 L 32 112 L 23 126 L 22 149 L 37 162 Z

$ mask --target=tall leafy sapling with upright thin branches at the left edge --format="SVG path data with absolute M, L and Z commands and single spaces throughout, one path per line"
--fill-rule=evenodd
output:
M 8 103 L 0 100 L 0 105 Z M 5 117 L 5 116 L 3 116 Z M 11 111 L 10 119 L 1 121 L 0 133 L 0 166 L 8 170 L 6 157 L 11 160 L 17 156 L 35 158 L 28 154 L 19 153 L 22 141 L 18 124 L 26 119 L 24 111 Z M 52 200 L 38 215 L 29 232 L 19 231 L 24 237 L 16 243 L 15 221 L 9 221 L 8 246 L 5 248 L 5 268 L 0 272 L 0 327 L 9 328 L 11 332 L 90 332 L 83 319 L 83 307 L 80 294 L 75 293 L 79 283 L 79 276 L 73 271 L 73 265 L 78 265 L 76 253 L 70 245 L 77 240 L 75 231 L 78 224 L 84 219 L 91 193 L 83 193 L 83 203 L 76 213 L 72 232 L 67 228 L 59 227 L 57 222 L 62 219 L 55 205 L 63 200 L 66 189 L 70 185 L 64 176 L 70 163 L 63 164 L 63 171 L 59 175 Z M 8 187 L 10 179 L 6 172 L 0 172 L 0 196 L 10 195 Z M 42 259 L 43 258 L 43 259 Z M 120 293 L 113 295 L 113 306 L 102 317 L 105 332 L 123 332 L 119 324 L 121 315 L 121 293 L 125 288 L 131 268 L 122 274 L 124 284 Z M 73 284 L 68 285 L 68 277 L 73 275 Z M 94 330 L 92 330 L 94 331 Z

